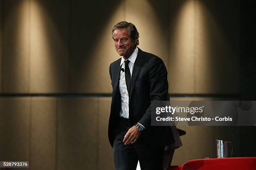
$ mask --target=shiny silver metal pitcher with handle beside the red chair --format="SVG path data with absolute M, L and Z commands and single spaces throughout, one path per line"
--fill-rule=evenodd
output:
M 231 155 L 233 154 L 233 145 L 225 140 L 216 140 L 217 142 L 217 158 L 228 158 L 228 144 L 231 145 Z

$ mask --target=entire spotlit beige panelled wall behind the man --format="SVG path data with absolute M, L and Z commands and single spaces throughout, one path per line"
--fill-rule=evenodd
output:
M 164 60 L 171 100 L 254 100 L 251 1 L 0 0 L 0 160 L 31 170 L 113 170 L 108 68 L 120 56 L 111 29 L 140 32 Z M 215 139 L 235 157 L 256 156 L 254 127 L 187 131 L 173 165 L 215 158 Z

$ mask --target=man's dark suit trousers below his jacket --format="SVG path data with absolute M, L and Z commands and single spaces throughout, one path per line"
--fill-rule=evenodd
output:
M 129 128 L 129 120 L 122 117 L 113 145 L 116 170 L 136 170 L 138 160 L 141 170 L 163 170 L 164 148 L 149 148 L 140 138 L 133 145 L 124 145 L 123 138 Z

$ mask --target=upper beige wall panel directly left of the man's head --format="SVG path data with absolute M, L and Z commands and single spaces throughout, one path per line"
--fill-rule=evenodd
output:
M 71 92 L 110 93 L 109 65 L 120 57 L 111 30 L 124 20 L 123 2 L 71 3 Z

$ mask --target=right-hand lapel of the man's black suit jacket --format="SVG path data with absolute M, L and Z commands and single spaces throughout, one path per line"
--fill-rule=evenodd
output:
M 133 73 L 132 73 L 132 77 L 131 77 L 129 103 L 130 103 L 131 97 L 133 95 L 133 89 L 134 89 L 135 81 L 136 81 L 137 76 L 138 76 L 138 72 L 139 72 L 139 70 L 141 68 L 141 64 L 143 62 L 142 58 L 143 58 L 143 52 L 142 52 L 141 49 L 138 48 L 138 55 L 137 55 L 136 60 L 134 62 Z

